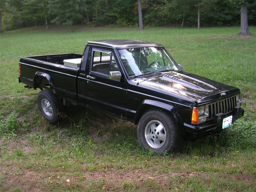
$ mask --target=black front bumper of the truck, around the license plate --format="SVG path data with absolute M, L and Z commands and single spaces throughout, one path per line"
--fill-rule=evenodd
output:
M 236 114 L 228 114 L 226 116 L 222 116 L 222 118 L 219 118 L 217 120 L 212 120 L 210 122 L 206 122 L 200 125 L 191 125 L 184 123 L 184 129 L 186 134 L 188 135 L 188 138 L 199 138 L 205 135 L 209 135 L 213 132 L 220 132 L 222 130 L 222 121 L 224 118 L 228 116 L 232 117 L 232 124 L 242 117 L 244 115 L 244 109 L 240 108 L 240 110 Z

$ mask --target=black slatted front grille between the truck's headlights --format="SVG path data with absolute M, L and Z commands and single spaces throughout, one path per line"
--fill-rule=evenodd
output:
M 228 113 L 233 111 L 234 107 L 236 107 L 236 96 L 211 103 L 208 105 L 208 109 L 209 109 L 208 120 L 213 119 L 214 115 L 217 113 L 223 113 L 223 115 L 227 115 Z

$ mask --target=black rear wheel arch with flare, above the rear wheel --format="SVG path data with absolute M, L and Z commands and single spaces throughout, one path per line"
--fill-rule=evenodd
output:
M 55 89 L 55 85 L 51 79 L 51 76 L 43 73 L 43 72 L 36 72 L 35 76 L 34 76 L 34 84 L 33 84 L 33 88 L 46 88 L 46 86 L 50 86 L 51 89 Z

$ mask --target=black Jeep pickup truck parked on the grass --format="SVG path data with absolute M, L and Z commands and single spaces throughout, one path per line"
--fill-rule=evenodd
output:
M 158 154 L 244 115 L 238 88 L 183 71 L 160 44 L 90 41 L 83 55 L 22 57 L 19 68 L 19 82 L 42 90 L 37 103 L 50 123 L 68 100 L 138 124 L 141 147 Z

